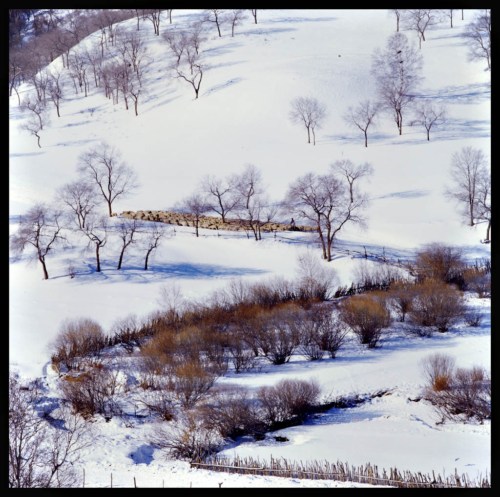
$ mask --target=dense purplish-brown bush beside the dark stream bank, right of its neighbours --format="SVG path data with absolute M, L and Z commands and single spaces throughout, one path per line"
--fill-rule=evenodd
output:
M 316 380 L 283 379 L 273 386 L 257 390 L 263 417 L 273 425 L 298 417 L 305 419 L 310 408 L 317 404 L 321 388 Z

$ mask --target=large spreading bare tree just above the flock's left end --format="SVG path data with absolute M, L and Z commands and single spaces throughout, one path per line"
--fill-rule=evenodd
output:
M 90 183 L 96 183 L 106 200 L 109 217 L 116 197 L 126 197 L 137 188 L 137 176 L 121 159 L 121 153 L 107 142 L 101 142 L 79 157 L 77 171 Z

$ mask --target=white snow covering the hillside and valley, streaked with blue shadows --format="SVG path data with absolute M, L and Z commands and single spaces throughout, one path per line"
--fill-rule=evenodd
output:
M 173 11 L 172 26 L 162 19 L 161 30 L 186 26 L 198 19 L 198 11 Z M 36 139 L 18 129 L 27 118 L 17 106 L 15 94 L 9 106 L 9 233 L 15 233 L 18 216 L 36 201 L 51 201 L 55 191 L 76 179 L 80 153 L 102 140 L 116 146 L 137 172 L 141 187 L 127 199 L 113 203 L 114 212 L 168 209 L 190 194 L 205 174 L 239 173 L 246 163 L 262 171 L 272 199 L 280 199 L 288 183 L 313 171 L 325 173 L 335 160 L 355 164 L 370 162 L 374 175 L 364 188 L 372 200 L 369 225 L 358 231 L 345 226 L 337 247 L 382 254 L 405 260 L 424 243 L 443 242 L 463 249 L 468 261 L 490 258 L 490 245 L 479 240 L 485 225 L 465 226 L 456 205 L 443 196 L 451 155 L 471 146 L 489 155 L 490 73 L 485 64 L 470 63 L 459 37 L 474 11 L 456 17 L 454 28 L 443 22 L 425 33 L 422 42 L 424 81 L 422 97 L 448 106 L 446 123 L 431 129 L 426 140 L 423 127 L 403 122 L 399 136 L 395 123 L 385 117 L 368 134 L 364 147 L 361 132 L 349 130 L 342 112 L 360 99 L 372 97 L 371 53 L 384 47 L 395 28 L 386 11 L 267 10 L 236 27 L 231 38 L 227 27 L 222 37 L 208 31 L 202 54 L 211 68 L 203 75 L 199 98 L 192 88 L 171 80 L 166 71 L 169 56 L 150 22 L 139 28 L 147 39 L 149 62 L 144 77 L 146 95 L 139 99 L 138 116 L 113 106 L 91 86 L 89 95 L 75 95 L 68 79 L 60 118 L 49 107 L 51 124 Z M 135 29 L 136 21 L 123 23 Z M 406 32 L 417 43 L 414 33 Z M 82 42 L 85 43 L 85 40 Z M 338 56 L 341 57 L 338 57 Z M 62 70 L 60 58 L 52 66 Z M 32 87 L 19 89 L 21 99 Z M 327 119 L 316 130 L 316 146 L 307 144 L 303 127 L 290 123 L 290 101 L 313 96 L 326 104 Z M 51 106 L 52 104 L 47 104 Z M 106 206 L 102 204 L 102 212 Z M 284 219 L 288 222 L 289 220 Z M 41 267 L 27 266 L 11 258 L 9 264 L 9 364 L 25 377 L 43 377 L 47 396 L 55 395 L 57 375 L 50 369 L 47 343 L 64 318 L 89 316 L 105 330 L 119 316 L 133 312 L 143 316 L 159 307 L 162 284 L 178 284 L 186 298 L 200 298 L 223 287 L 231 278 L 251 280 L 273 276 L 292 278 L 296 257 L 305 247 L 317 244 L 304 233 L 267 234 L 259 242 L 244 233 L 214 235 L 200 230 L 169 227 L 171 237 L 157 250 L 143 270 L 143 250 L 131 246 L 123 267 L 116 270 L 119 242 L 110 240 L 102 249 L 101 272 L 95 272 L 92 252 L 72 234 L 71 246 L 49 254 L 50 278 L 42 279 Z M 333 267 L 339 284 L 350 284 L 358 258 L 333 251 Z M 69 278 L 72 262 L 75 278 Z M 321 261 L 321 264 L 328 263 Z M 217 380 L 258 387 L 278 379 L 317 378 L 328 394 L 370 394 L 384 389 L 390 395 L 356 407 L 332 409 L 306 424 L 281 430 L 289 441 L 237 440 L 223 453 L 269 459 L 337 459 L 353 465 L 366 462 L 378 468 L 394 467 L 441 474 L 468 473 L 475 477 L 490 470 L 490 424 L 436 426 L 438 420 L 425 402 L 411 402 L 423 387 L 418 362 L 431 352 L 456 356 L 457 365 L 490 366 L 490 302 L 467 295 L 467 305 L 481 308 L 483 323 L 477 328 L 458 325 L 450 332 L 428 338 L 405 336 L 398 324 L 378 349 L 363 349 L 355 342 L 335 359 L 308 362 L 295 354 L 281 366 L 264 365 L 260 372 L 234 374 Z M 439 336 L 437 336 L 439 335 Z M 132 421 L 133 428 L 113 417 L 94 423 L 95 443 L 81 451 L 78 467 L 85 468 L 85 486 L 363 486 L 321 480 L 257 477 L 211 473 L 189 469 L 181 461 L 166 461 L 145 442 L 151 422 Z M 75 463 L 76 464 L 76 463 Z

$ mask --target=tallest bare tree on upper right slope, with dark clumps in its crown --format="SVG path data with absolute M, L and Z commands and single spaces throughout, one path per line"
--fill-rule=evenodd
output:
M 391 112 L 402 133 L 402 116 L 413 101 L 414 88 L 421 81 L 422 57 L 402 33 L 387 39 L 384 51 L 375 49 L 371 74 L 376 78 L 382 109 Z

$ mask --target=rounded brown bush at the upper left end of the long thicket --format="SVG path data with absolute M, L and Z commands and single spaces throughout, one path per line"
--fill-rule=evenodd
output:
M 78 317 L 65 319 L 59 332 L 48 344 L 52 363 L 63 364 L 68 370 L 78 368 L 89 358 L 99 363 L 106 337 L 101 326 L 93 319 Z

